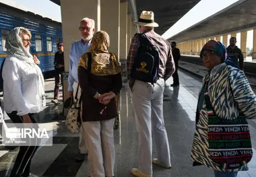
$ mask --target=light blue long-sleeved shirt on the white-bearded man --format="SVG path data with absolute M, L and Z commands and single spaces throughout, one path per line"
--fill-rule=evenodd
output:
M 77 70 L 80 57 L 86 53 L 90 47 L 91 40 L 84 44 L 83 40 L 77 40 L 71 44 L 70 62 L 69 62 L 69 88 L 68 91 L 73 91 L 74 81 L 78 82 Z

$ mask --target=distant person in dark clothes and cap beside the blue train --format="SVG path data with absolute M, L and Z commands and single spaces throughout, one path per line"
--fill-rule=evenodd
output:
M 63 43 L 59 42 L 57 44 L 58 52 L 55 53 L 54 57 L 54 65 L 55 65 L 55 88 L 54 88 L 54 100 L 52 102 L 54 104 L 58 103 L 59 97 L 59 85 L 60 85 L 60 78 L 59 75 L 64 72 L 64 48 Z M 62 77 L 61 77 L 62 80 Z

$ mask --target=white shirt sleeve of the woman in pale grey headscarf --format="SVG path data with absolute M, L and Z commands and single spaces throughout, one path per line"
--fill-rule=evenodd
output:
M 19 116 L 30 113 L 30 109 L 26 106 L 26 102 L 22 95 L 21 73 L 13 61 L 5 61 L 3 65 L 3 83 L 9 90 L 10 99 Z

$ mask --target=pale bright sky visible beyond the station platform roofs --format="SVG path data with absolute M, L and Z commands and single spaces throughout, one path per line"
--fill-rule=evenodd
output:
M 71 0 L 69 0 L 71 1 Z M 93 1 L 93 0 L 92 0 Z M 139 0 L 137 0 L 139 1 Z M 235 3 L 238 0 L 201 0 L 193 9 L 191 9 L 186 15 L 181 18 L 174 26 L 172 26 L 166 33 L 163 34 L 164 38 L 170 38 L 174 34 L 177 34 L 193 24 L 200 22 L 201 20 L 213 15 L 214 13 L 228 7 L 232 3 Z M 21 9 L 26 9 L 34 13 L 38 13 L 43 17 L 49 17 L 52 20 L 61 22 L 61 7 L 49 0 L 0 0 L 2 3 L 14 4 Z M 249 40 L 247 40 L 247 46 L 252 48 L 253 43 L 251 40 L 252 32 L 247 34 Z M 240 39 L 238 36 L 238 42 Z M 238 44 L 238 46 L 240 46 Z

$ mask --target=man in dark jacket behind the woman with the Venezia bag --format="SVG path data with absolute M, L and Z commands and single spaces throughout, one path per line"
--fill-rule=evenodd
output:
M 244 67 L 244 56 L 240 48 L 236 46 L 236 38 L 232 37 L 229 40 L 229 46 L 226 48 L 228 57 L 230 57 L 236 65 L 239 65 L 240 69 L 243 70 Z

